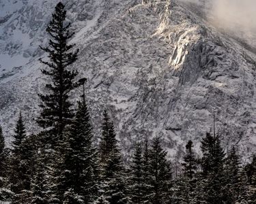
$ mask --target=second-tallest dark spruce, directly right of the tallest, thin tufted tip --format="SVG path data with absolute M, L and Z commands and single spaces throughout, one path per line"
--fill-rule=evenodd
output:
M 57 194 L 63 203 L 92 203 L 98 196 L 98 164 L 92 127 L 85 103 L 78 103 L 71 126 L 63 133 L 57 163 Z

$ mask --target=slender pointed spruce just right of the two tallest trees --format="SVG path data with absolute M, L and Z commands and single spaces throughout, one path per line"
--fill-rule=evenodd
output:
M 100 141 L 100 191 L 110 204 L 128 203 L 126 192 L 126 173 L 121 161 L 121 153 L 117 146 L 113 122 L 106 111 L 102 124 L 102 140 Z

